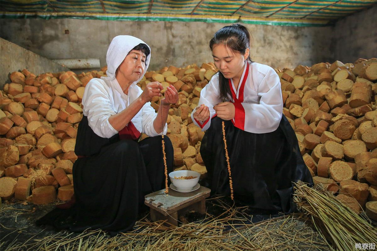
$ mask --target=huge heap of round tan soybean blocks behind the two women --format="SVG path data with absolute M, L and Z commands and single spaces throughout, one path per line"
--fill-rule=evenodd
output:
M 144 89 L 159 81 L 178 90 L 179 100 L 167 120 L 175 170 L 194 170 L 203 176 L 207 172 L 199 152 L 204 132 L 190 115 L 217 70 L 213 63 L 169 66 L 147 72 L 138 83 Z M 367 201 L 377 200 L 377 60 L 275 70 L 283 113 L 296 132 L 314 182 L 360 212 Z M 35 204 L 70 199 L 81 98 L 90 79 L 105 72 L 106 67 L 79 75 L 69 71 L 35 76 L 26 69 L 11 74 L 12 83 L 4 86 L 0 101 L 3 199 Z M 157 111 L 160 102 L 155 97 L 151 106 Z M 141 140 L 146 137 L 142 134 Z

